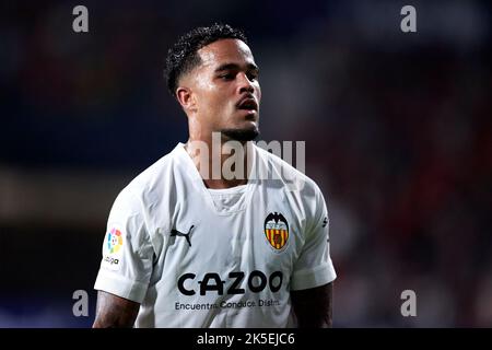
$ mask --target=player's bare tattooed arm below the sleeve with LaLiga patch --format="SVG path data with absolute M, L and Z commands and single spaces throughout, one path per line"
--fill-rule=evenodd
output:
M 140 304 L 114 294 L 98 291 L 93 328 L 131 328 Z

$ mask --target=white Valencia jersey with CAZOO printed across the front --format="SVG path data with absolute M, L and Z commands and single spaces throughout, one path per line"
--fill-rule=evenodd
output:
M 321 191 L 253 150 L 254 171 L 298 186 L 209 189 L 179 143 L 118 195 L 94 288 L 141 303 L 136 327 L 295 327 L 290 291 L 336 278 Z

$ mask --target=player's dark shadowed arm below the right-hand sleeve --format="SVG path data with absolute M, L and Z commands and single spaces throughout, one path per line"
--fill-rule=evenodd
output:
M 333 282 L 291 291 L 292 307 L 300 328 L 331 328 Z

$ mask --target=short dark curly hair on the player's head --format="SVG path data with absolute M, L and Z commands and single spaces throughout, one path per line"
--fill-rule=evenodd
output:
M 166 58 L 165 78 L 167 89 L 173 96 L 176 96 L 179 78 L 201 63 L 197 51 L 209 44 L 226 38 L 239 39 L 247 44 L 247 38 L 241 30 L 220 23 L 197 27 L 179 37 L 167 51 Z

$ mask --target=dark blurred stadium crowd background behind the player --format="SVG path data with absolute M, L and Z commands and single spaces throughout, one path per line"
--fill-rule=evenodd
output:
M 401 1 L 4 2 L 0 22 L 0 327 L 85 327 L 117 192 L 186 141 L 168 46 L 243 27 L 261 138 L 305 140 L 331 222 L 336 327 L 491 327 L 491 5 Z M 87 290 L 90 316 L 72 315 Z M 400 293 L 414 290 L 417 317 Z

